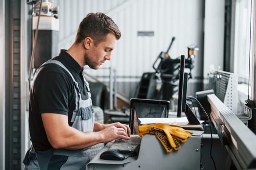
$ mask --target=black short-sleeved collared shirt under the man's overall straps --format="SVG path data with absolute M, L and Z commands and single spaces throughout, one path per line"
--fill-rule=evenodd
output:
M 79 84 L 82 99 L 88 99 L 82 77 L 83 68 L 65 50 L 61 50 L 59 56 L 53 60 L 60 61 L 73 75 Z M 68 116 L 70 122 L 75 109 L 75 87 L 69 73 L 56 64 L 47 64 L 39 68 L 31 89 L 29 102 L 29 130 L 33 147 L 39 151 L 53 148 L 49 143 L 41 114 L 57 113 Z

